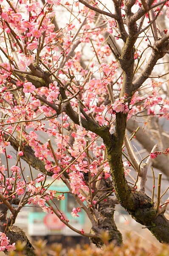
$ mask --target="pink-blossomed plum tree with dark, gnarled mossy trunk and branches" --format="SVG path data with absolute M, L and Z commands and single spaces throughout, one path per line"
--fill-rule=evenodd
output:
M 161 174 L 157 202 L 145 193 L 150 163 L 162 169 L 169 153 L 162 128 L 155 137 L 159 151 L 146 129 L 149 119 L 169 119 L 167 73 L 161 75 L 169 33 L 158 24 L 160 15 L 169 18 L 169 1 L 0 0 L 0 153 L 6 157 L 0 163 L 0 250 L 13 250 L 21 240 L 27 255 L 35 255 L 25 233 L 14 226 L 29 204 L 56 214 L 101 247 L 103 232 L 117 245 L 122 242 L 113 219 L 119 203 L 159 241 L 169 243 Z M 145 137 L 137 129 L 139 120 Z M 137 134 L 148 150 L 141 161 L 130 142 Z M 16 154 L 8 154 L 9 145 Z M 21 159 L 28 163 L 28 177 Z M 37 176 L 31 167 L 39 170 Z M 90 233 L 76 230 L 51 204 L 56 191 L 45 185 L 49 177 L 68 187 L 79 204 L 72 216 L 78 218 L 83 209 Z M 153 195 L 154 190 L 152 185 Z

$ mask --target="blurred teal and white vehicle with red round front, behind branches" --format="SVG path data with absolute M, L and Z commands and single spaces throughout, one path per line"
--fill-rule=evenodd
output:
M 91 225 L 89 221 L 85 218 L 86 214 L 83 209 L 78 212 L 79 217 L 73 217 L 71 215 L 73 207 L 79 207 L 79 204 L 75 201 L 73 196 L 68 192 L 67 186 L 62 182 L 62 180 L 56 180 L 50 187 L 50 190 L 56 191 L 57 195 L 62 195 L 64 193 L 65 200 L 58 200 L 54 198 L 54 206 L 58 207 L 59 211 L 64 215 L 65 219 L 69 220 L 69 224 L 75 227 L 77 230 L 84 229 L 85 232 L 90 232 Z M 62 193 L 58 193 L 62 192 Z M 53 204 L 51 202 L 51 204 Z M 53 204 L 53 205 L 54 205 Z M 60 219 L 53 213 L 42 212 L 40 207 L 31 205 L 28 211 L 28 236 L 33 240 L 37 239 L 47 239 L 50 242 L 64 242 L 68 244 L 76 240 L 78 243 L 88 242 L 88 238 L 83 238 L 78 233 L 68 228 L 65 224 L 60 221 Z

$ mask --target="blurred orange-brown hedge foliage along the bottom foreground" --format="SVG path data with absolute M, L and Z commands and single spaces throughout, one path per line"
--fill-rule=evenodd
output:
M 83 247 L 62 248 L 62 244 L 52 244 L 46 246 L 46 241 L 39 240 L 34 244 L 37 256 L 168 256 L 169 245 L 149 244 L 145 245 L 142 239 L 132 233 L 126 234 L 127 240 L 121 247 L 114 244 L 107 245 L 104 250 L 100 250 L 93 245 L 85 244 Z M 107 243 L 107 234 L 104 233 L 102 240 Z M 9 252 L 9 256 L 25 256 L 24 244 L 18 243 L 15 251 Z

